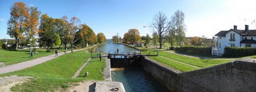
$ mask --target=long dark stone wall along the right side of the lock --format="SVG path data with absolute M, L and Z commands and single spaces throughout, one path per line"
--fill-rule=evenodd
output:
M 180 73 L 141 57 L 144 70 L 170 91 L 256 91 L 256 63 L 234 61 Z

